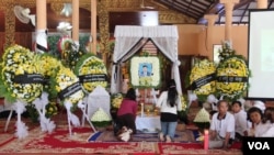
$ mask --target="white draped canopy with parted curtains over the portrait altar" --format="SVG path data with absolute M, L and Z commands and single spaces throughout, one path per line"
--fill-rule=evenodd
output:
M 122 71 L 121 65 L 135 53 L 137 53 L 146 43 L 151 40 L 163 55 L 173 62 L 171 78 L 176 82 L 176 89 L 182 95 L 178 59 L 178 27 L 175 25 L 159 26 L 136 26 L 136 25 L 116 25 L 115 47 L 113 53 L 111 93 L 121 92 Z

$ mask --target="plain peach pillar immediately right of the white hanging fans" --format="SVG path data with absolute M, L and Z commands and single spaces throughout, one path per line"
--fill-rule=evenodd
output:
M 79 0 L 72 0 L 72 40 L 79 43 Z

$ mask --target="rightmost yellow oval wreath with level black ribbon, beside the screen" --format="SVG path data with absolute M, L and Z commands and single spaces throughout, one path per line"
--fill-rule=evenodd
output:
M 248 89 L 250 70 L 242 56 L 230 56 L 216 70 L 216 90 L 229 99 L 240 98 Z

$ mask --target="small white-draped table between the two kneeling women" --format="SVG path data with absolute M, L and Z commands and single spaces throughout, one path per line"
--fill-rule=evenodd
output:
M 144 133 L 157 133 L 161 130 L 160 115 L 137 115 L 135 124 Z

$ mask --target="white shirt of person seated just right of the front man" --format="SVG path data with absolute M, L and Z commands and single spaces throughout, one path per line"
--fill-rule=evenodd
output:
M 243 136 L 243 132 L 248 131 L 250 128 L 249 122 L 247 120 L 247 112 L 241 110 L 238 113 L 233 113 L 235 115 L 235 132 L 239 133 Z

